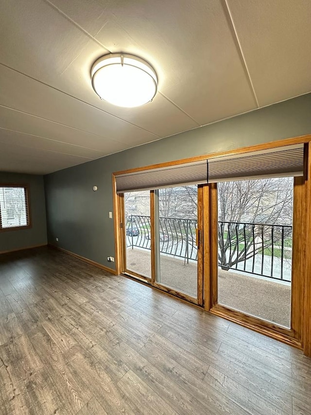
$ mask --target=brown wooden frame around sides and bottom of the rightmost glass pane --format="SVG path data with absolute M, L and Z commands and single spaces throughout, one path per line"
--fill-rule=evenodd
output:
M 205 291 L 205 310 L 283 343 L 288 343 L 294 347 L 303 349 L 307 355 L 311 355 L 311 351 L 308 351 L 310 340 L 308 341 L 308 337 L 304 335 L 305 330 L 308 330 L 310 326 L 310 320 L 308 322 L 308 318 L 310 319 L 311 314 L 310 297 L 308 300 L 308 292 L 310 295 L 310 289 L 307 288 L 307 284 L 310 284 L 310 268 L 308 271 L 308 267 L 310 267 L 310 250 L 308 250 L 308 246 L 311 243 L 311 209 L 310 206 L 308 208 L 308 201 L 310 203 L 311 198 L 310 155 L 311 143 L 306 143 L 304 177 L 294 178 L 291 329 L 265 322 L 257 317 L 218 304 L 218 202 L 216 183 L 210 183 L 208 185 L 206 206 L 209 212 L 210 228 L 205 229 L 205 237 L 207 239 L 209 238 L 210 244 L 209 256 L 205 261 L 205 269 L 209 270 L 209 278 L 207 279 L 209 289 Z

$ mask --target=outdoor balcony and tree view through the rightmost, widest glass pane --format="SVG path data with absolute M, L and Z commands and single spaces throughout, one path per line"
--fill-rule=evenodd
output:
M 293 178 L 217 187 L 218 302 L 290 327 Z

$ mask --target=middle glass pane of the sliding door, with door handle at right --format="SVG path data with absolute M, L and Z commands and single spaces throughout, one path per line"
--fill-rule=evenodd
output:
M 157 191 L 155 202 L 156 282 L 198 296 L 198 186 Z

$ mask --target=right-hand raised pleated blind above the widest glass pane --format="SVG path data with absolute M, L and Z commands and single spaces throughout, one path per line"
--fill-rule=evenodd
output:
M 303 176 L 304 145 L 208 159 L 208 182 Z

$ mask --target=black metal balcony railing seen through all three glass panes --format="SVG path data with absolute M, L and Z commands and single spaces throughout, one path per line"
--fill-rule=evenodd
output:
M 197 220 L 159 218 L 160 253 L 197 261 Z M 149 216 L 126 217 L 127 247 L 151 249 Z M 218 264 L 235 270 L 282 281 L 291 281 L 292 226 L 247 222 L 218 222 Z

